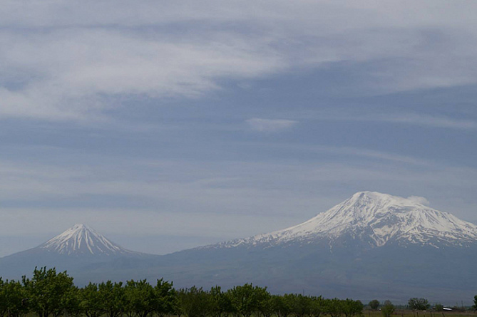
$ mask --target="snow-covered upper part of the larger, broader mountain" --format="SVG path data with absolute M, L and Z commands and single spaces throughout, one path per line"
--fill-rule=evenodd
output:
M 477 243 L 477 226 L 447 212 L 426 207 L 416 199 L 379 192 L 357 192 L 326 212 L 294 227 L 218 244 L 273 246 L 294 242 L 361 241 L 376 247 L 390 242 L 463 246 Z

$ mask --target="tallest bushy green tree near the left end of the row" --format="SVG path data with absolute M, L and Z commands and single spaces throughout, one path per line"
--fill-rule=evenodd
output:
M 66 310 L 68 294 L 74 287 L 73 278 L 66 271 L 46 270 L 46 266 L 35 268 L 33 277 L 23 276 L 22 282 L 29 298 L 29 307 L 39 317 L 58 317 Z

